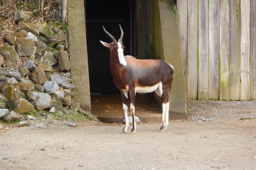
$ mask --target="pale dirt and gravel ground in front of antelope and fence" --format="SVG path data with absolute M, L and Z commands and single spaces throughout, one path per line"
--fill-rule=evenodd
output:
M 255 105 L 188 101 L 189 119 L 162 133 L 159 123 L 137 124 L 134 135 L 100 122 L 9 125 L 0 131 L 0 169 L 256 169 Z M 216 120 L 197 123 L 202 117 Z

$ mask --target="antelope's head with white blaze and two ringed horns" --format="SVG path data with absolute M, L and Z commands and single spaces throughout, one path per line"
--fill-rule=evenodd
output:
M 125 47 L 123 46 L 122 44 L 122 39 L 123 39 L 123 35 L 124 35 L 124 32 L 121 28 L 121 25 L 119 24 L 120 26 L 120 29 L 121 29 L 121 36 L 120 36 L 120 39 L 118 40 L 118 42 L 115 40 L 115 38 L 110 34 L 108 33 L 104 26 L 103 26 L 103 29 L 105 31 L 105 33 L 107 35 L 109 35 L 109 37 L 112 39 L 113 42 L 111 43 L 106 43 L 106 42 L 102 42 L 100 41 L 105 47 L 108 47 L 110 49 L 110 54 L 112 54 L 112 56 L 114 57 L 114 61 L 115 62 L 118 62 L 120 65 L 122 65 L 123 68 L 126 68 L 127 67 L 127 63 L 125 61 L 125 57 L 124 57 L 124 49 Z

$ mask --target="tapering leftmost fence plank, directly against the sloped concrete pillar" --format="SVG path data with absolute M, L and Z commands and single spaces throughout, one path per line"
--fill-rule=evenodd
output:
M 179 14 L 179 39 L 180 39 L 180 48 L 183 64 L 183 75 L 185 80 L 185 88 L 187 95 L 187 0 L 177 0 L 177 11 Z

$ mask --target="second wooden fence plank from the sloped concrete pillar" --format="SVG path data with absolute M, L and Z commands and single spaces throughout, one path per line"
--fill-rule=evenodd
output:
M 198 88 L 198 0 L 188 0 L 188 99 L 197 99 Z

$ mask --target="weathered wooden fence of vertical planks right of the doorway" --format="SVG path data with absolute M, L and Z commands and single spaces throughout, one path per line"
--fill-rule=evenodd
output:
M 188 99 L 256 100 L 256 0 L 177 0 Z

